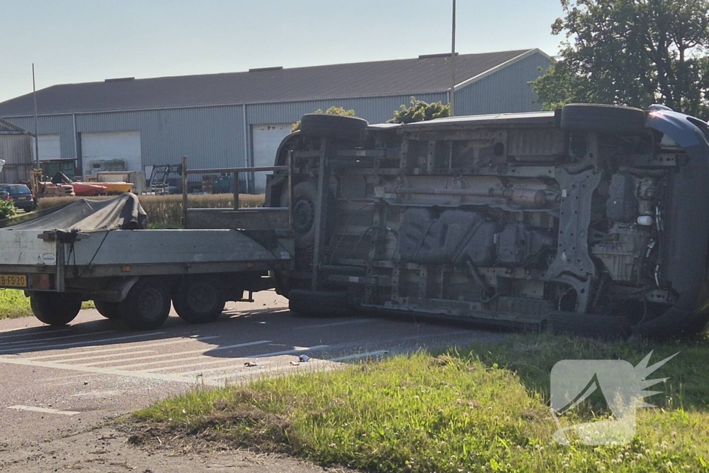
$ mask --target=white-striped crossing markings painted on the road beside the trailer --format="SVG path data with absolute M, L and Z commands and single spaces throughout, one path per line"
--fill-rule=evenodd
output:
M 0 333 L 0 364 L 219 386 L 267 374 L 296 372 L 303 367 L 328 369 L 344 361 L 386 353 L 365 351 L 328 360 L 328 352 L 341 352 L 341 347 L 323 343 L 289 346 L 268 339 L 228 345 L 222 345 L 223 341 L 228 343 L 223 335 L 169 331 L 80 333 L 74 327 L 8 331 Z M 303 354 L 308 355 L 307 363 L 298 362 L 298 355 Z

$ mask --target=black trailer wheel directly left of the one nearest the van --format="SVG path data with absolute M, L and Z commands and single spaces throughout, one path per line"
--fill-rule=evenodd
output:
M 130 288 L 125 301 L 119 304 L 118 311 L 130 328 L 158 328 L 165 323 L 170 313 L 169 290 L 154 279 L 140 279 Z

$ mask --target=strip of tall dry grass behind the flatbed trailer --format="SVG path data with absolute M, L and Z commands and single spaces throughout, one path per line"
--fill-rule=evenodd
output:
M 38 210 L 66 204 L 82 199 L 81 197 L 47 197 L 40 199 Z M 112 197 L 91 197 L 102 200 Z M 182 195 L 172 196 L 138 196 L 140 205 L 147 213 L 147 221 L 151 225 L 179 224 L 182 217 Z M 241 194 L 241 207 L 260 207 L 264 204 L 264 194 Z M 189 196 L 190 208 L 229 208 L 234 206 L 231 194 L 192 194 Z

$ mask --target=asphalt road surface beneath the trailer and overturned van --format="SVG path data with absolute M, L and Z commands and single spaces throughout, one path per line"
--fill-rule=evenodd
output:
M 27 468 L 42 445 L 195 386 L 506 336 L 413 319 L 304 318 L 272 291 L 256 298 L 230 303 L 216 323 L 189 325 L 173 313 L 162 328 L 148 332 L 129 330 L 93 310 L 61 328 L 35 318 L 0 321 L 0 469 L 11 464 L 4 463 L 9 452 L 12 464 Z M 301 355 L 308 362 L 299 361 Z M 17 463 L 22 451 L 26 455 Z

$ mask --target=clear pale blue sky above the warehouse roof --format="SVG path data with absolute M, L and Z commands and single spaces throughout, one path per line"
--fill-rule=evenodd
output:
M 559 0 L 458 0 L 460 53 L 540 48 Z M 401 59 L 450 51 L 451 0 L 0 0 L 0 101 L 111 77 Z

